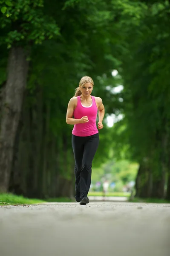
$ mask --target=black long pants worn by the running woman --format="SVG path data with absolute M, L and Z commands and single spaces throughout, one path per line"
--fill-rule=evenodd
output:
M 99 144 L 99 134 L 80 137 L 72 134 L 72 148 L 75 157 L 76 197 L 87 197 L 91 184 L 92 160 Z

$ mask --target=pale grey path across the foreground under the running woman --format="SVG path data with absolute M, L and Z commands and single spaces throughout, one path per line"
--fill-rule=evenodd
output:
M 0 256 L 169 256 L 170 204 L 0 207 Z

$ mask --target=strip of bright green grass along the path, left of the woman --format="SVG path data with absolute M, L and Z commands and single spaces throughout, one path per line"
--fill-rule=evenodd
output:
M 25 198 L 21 195 L 10 193 L 0 194 L 0 205 L 22 205 L 22 204 L 41 204 L 45 202 L 71 202 L 70 198 L 48 198 L 46 200 Z

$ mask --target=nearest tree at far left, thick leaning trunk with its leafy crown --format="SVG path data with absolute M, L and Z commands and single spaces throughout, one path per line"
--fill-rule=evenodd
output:
M 59 35 L 59 31 L 55 21 L 44 15 L 43 0 L 2 0 L 0 9 L 0 43 L 10 49 L 0 120 L 0 191 L 6 192 L 26 88 L 31 45 Z

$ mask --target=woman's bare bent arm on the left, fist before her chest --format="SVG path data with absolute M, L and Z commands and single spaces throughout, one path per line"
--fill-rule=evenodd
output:
M 81 119 L 73 118 L 74 106 L 75 106 L 76 100 L 77 99 L 75 97 L 73 97 L 72 99 L 70 99 L 69 104 L 68 104 L 67 113 L 66 113 L 66 123 L 68 125 L 75 125 L 75 124 L 80 124 L 80 123 L 84 123 L 84 122 L 89 122 L 87 116 L 83 116 Z

